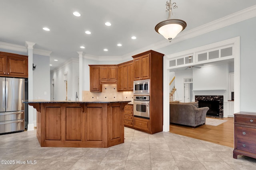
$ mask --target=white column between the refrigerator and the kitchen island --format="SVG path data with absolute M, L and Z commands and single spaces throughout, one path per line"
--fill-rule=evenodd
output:
M 26 41 L 28 49 L 28 100 L 33 100 L 33 47 L 36 43 Z M 28 131 L 34 130 L 32 106 L 28 105 Z

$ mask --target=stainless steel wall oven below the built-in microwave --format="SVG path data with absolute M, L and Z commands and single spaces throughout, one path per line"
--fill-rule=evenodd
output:
M 149 96 L 134 96 L 133 115 L 149 119 Z

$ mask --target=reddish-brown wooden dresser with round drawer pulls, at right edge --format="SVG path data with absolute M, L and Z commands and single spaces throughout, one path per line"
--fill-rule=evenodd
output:
M 256 158 L 256 113 L 235 113 L 234 126 L 233 158 L 238 155 Z

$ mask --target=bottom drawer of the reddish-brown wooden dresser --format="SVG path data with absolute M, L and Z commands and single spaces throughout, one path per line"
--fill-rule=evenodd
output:
M 256 143 L 244 139 L 237 139 L 236 149 L 245 152 L 256 153 Z

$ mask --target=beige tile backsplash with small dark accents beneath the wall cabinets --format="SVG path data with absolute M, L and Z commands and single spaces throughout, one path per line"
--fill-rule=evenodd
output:
M 102 84 L 102 92 L 82 92 L 82 100 L 131 100 L 133 102 L 133 91 L 117 92 L 116 84 Z

